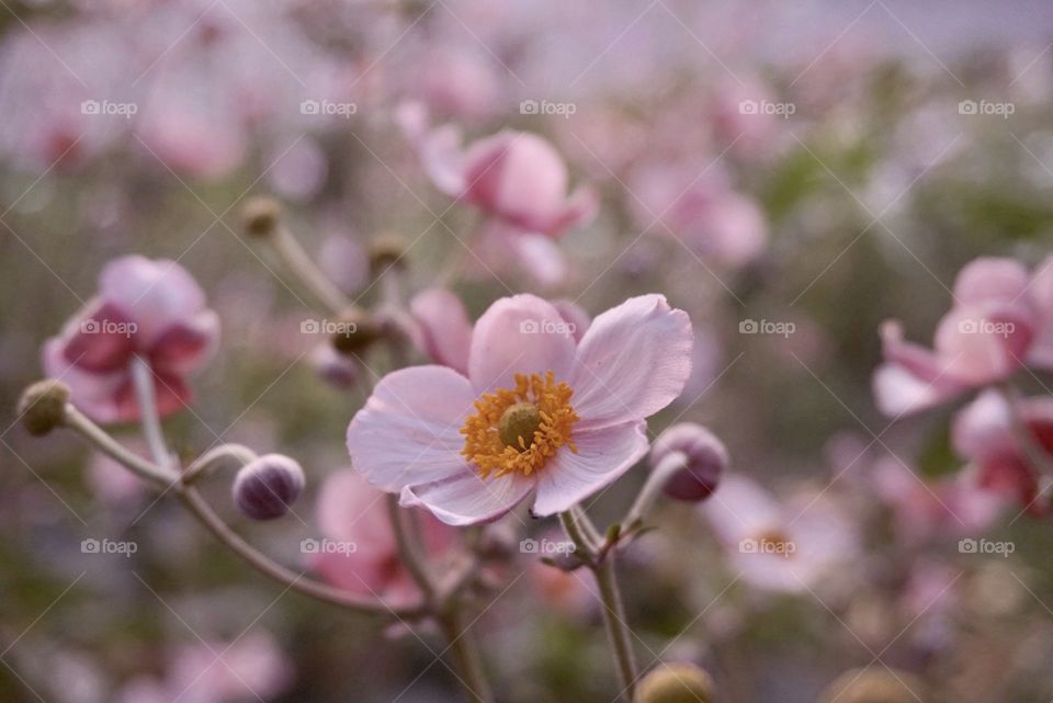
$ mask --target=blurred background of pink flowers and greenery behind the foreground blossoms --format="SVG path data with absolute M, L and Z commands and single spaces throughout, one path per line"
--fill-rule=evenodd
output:
M 710 427 L 788 524 L 839 538 L 772 576 L 785 565 L 743 568 L 711 512 L 664 504 L 622 569 L 642 665 L 697 661 L 736 703 L 813 702 L 868 666 L 910 672 L 925 703 L 1053 699 L 1046 523 L 1017 506 L 959 519 L 941 492 L 965 463 L 954 408 L 890 423 L 870 385 L 884 319 L 928 343 L 964 263 L 1050 251 L 1049 3 L 0 4 L 0 699 L 457 700 L 429 633 L 283 594 L 77 438 L 15 422 L 43 342 L 105 262 L 178 260 L 223 332 L 191 408 L 166 421 L 172 445 L 297 457 L 295 517 L 248 524 L 228 481 L 207 491 L 307 568 L 316 492 L 349 465 L 348 421 L 387 361 L 342 387 L 319 374 L 319 341 L 299 333 L 309 296 L 240 234 L 258 194 L 363 305 L 378 298 L 367 242 L 395 233 L 408 290 L 461 265 L 451 285 L 473 319 L 522 291 L 592 316 L 659 292 L 691 315 L 693 377 L 652 432 Z M 429 181 L 407 104 L 468 139 L 540 134 L 571 186 L 598 191 L 596 220 L 559 241 L 564 275 L 539 282 L 502 252 L 476 265 L 476 216 Z M 137 428 L 113 432 L 141 447 Z M 618 519 L 644 474 L 590 511 Z M 587 586 L 530 555 L 503 568 L 477 625 L 499 699 L 613 700 Z

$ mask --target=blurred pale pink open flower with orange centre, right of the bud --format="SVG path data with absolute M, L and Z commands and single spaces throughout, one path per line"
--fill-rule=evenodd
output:
M 794 510 L 751 479 L 732 475 L 702 510 L 735 571 L 762 590 L 814 588 L 858 552 L 851 521 L 823 494 Z

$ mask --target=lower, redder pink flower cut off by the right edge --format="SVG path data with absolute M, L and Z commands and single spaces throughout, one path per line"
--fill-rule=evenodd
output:
M 982 393 L 954 418 L 951 442 L 976 466 L 980 486 L 1008 494 L 1042 515 L 1049 511 L 1049 501 L 1038 500 L 1041 468 L 1033 465 L 1014 426 L 1020 422 L 1031 434 L 1034 451 L 1045 452 L 1053 461 L 1053 398 L 1027 398 L 1015 406 L 995 390 Z

